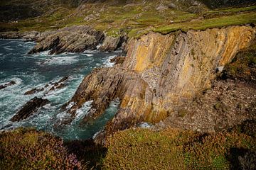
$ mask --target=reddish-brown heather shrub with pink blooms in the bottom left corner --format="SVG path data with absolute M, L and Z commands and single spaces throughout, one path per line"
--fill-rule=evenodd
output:
M 25 128 L 0 133 L 0 169 L 82 168 L 58 137 Z

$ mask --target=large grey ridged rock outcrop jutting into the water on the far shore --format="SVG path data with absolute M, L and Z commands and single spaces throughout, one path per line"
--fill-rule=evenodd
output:
M 34 54 L 50 50 L 49 54 L 62 52 L 83 52 L 95 50 L 104 40 L 104 34 L 88 26 L 73 26 L 60 30 L 42 33 L 36 41 L 38 44 L 28 52 Z

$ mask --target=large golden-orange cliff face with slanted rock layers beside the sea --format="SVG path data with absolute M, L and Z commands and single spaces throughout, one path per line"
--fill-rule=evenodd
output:
M 157 123 L 207 89 L 218 67 L 228 64 L 236 53 L 255 38 L 251 26 L 231 26 L 204 31 L 189 30 L 168 35 L 149 33 L 130 40 L 123 64 L 95 69 L 78 87 L 68 112 L 93 100 L 83 123 L 97 118 L 114 98 L 119 111 L 102 135 L 148 121 Z

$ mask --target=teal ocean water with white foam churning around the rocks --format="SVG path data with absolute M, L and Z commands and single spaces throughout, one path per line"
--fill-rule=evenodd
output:
M 80 108 L 72 123 L 61 124 L 61 120 L 70 118 L 68 113 L 60 108 L 75 94 L 83 77 L 95 67 L 112 67 L 110 59 L 120 52 L 85 51 L 82 54 L 65 53 L 48 55 L 41 52 L 36 55 L 27 55 L 35 45 L 34 42 L 23 40 L 0 40 L 0 85 L 15 81 L 14 86 L 0 90 L 0 130 L 10 130 L 18 127 L 33 127 L 45 130 L 64 140 L 82 140 L 93 137 L 102 130 L 108 120 L 117 112 L 119 101 L 112 101 L 110 107 L 97 120 L 80 125 L 80 120 L 90 109 L 92 101 L 88 101 Z M 42 88 L 50 82 L 59 81 L 68 76 L 66 86 L 57 91 L 51 91 L 44 96 L 45 91 L 25 96 L 24 93 L 33 88 Z M 47 98 L 50 103 L 43 106 L 38 113 L 18 123 L 9 120 L 31 98 Z

